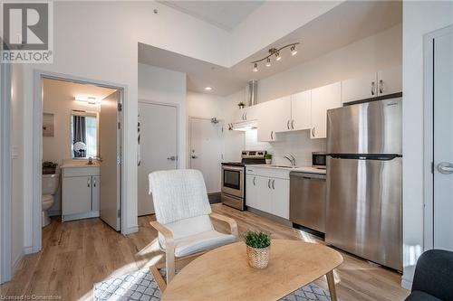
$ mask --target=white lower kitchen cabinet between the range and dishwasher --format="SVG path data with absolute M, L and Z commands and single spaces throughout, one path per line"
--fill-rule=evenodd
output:
M 246 205 L 288 220 L 289 178 L 258 175 L 257 169 L 254 172 L 246 174 Z

